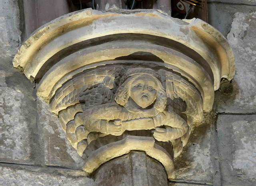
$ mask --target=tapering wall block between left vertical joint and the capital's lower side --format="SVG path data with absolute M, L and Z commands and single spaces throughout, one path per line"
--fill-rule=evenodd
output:
M 37 99 L 38 134 L 46 165 L 81 168 L 84 160 L 78 155 L 60 126 L 58 118 L 52 114 L 49 104 Z

